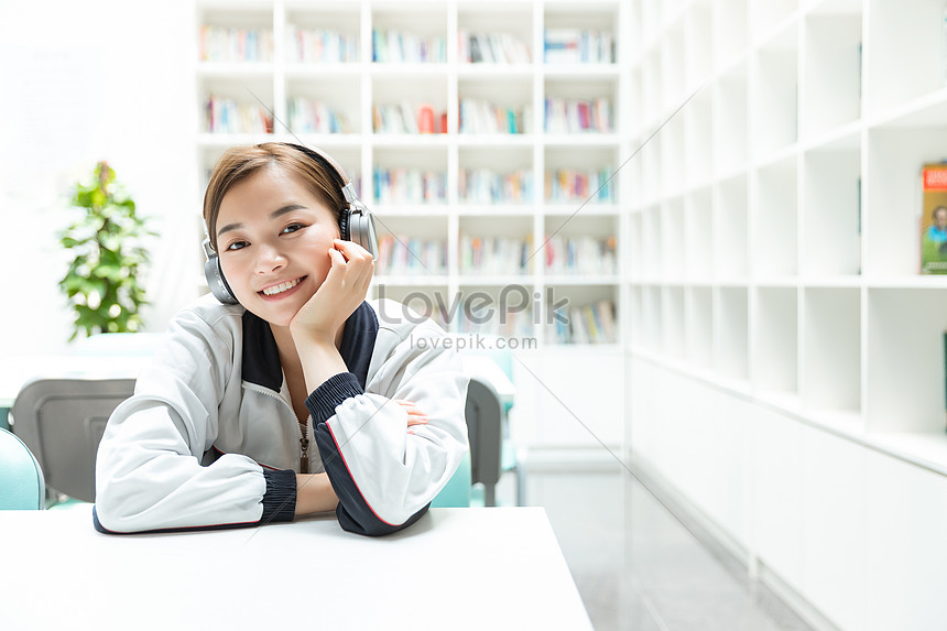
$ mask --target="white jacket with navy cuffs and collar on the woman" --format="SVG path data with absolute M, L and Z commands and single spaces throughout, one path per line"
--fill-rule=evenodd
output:
M 467 377 L 446 334 L 394 301 L 362 303 L 339 349 L 349 372 L 312 392 L 309 471 L 326 471 L 340 525 L 413 523 L 468 449 Z M 418 344 L 418 340 L 422 340 Z M 407 434 L 407 413 L 427 414 Z M 134 395 L 109 418 L 96 463 L 96 527 L 129 533 L 293 518 L 300 424 L 269 325 L 200 298 L 172 322 Z

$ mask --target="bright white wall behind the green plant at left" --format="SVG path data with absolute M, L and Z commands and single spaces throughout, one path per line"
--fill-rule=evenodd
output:
M 161 232 L 149 330 L 195 295 L 200 253 L 192 0 L 0 4 L 0 357 L 67 350 L 55 233 L 72 183 L 107 160 Z

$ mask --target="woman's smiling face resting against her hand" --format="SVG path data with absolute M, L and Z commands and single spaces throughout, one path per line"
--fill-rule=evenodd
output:
M 220 270 L 247 309 L 289 326 L 331 266 L 335 215 L 279 165 L 230 187 L 217 216 Z

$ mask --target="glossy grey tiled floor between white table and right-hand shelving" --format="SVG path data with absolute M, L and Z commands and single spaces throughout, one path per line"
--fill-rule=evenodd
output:
M 505 477 L 498 501 L 512 503 Z M 810 630 L 617 464 L 533 468 L 526 502 L 545 507 L 597 631 Z

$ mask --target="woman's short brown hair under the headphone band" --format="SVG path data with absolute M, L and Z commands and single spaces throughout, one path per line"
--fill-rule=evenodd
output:
M 282 142 L 263 142 L 253 145 L 231 146 L 214 165 L 210 182 L 204 193 L 204 225 L 210 237 L 210 244 L 217 250 L 217 215 L 220 203 L 233 185 L 249 178 L 264 166 L 282 166 L 325 204 L 339 220 L 346 207 L 341 192 L 341 178 L 334 168 L 313 160 L 298 149 Z

